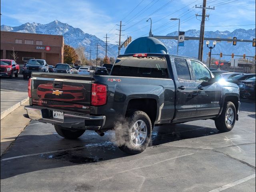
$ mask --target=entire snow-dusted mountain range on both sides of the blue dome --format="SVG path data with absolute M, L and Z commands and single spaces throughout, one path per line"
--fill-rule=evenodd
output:
M 12 32 L 25 32 L 25 33 L 37 33 L 37 34 L 52 34 L 52 35 L 63 35 L 64 43 L 68 44 L 74 48 L 78 46 L 84 46 L 86 48 L 86 52 L 90 52 L 92 50 L 92 58 L 96 58 L 96 45 L 99 44 L 98 57 L 103 58 L 105 56 L 105 42 L 95 35 L 88 34 L 83 32 L 80 28 L 74 28 L 69 24 L 62 23 L 58 20 L 50 22 L 48 24 L 40 24 L 40 23 L 25 23 L 20 26 L 6 26 L 1 25 L 1 31 L 12 31 Z M 187 30 L 185 31 L 185 36 L 190 37 L 199 37 L 200 31 L 198 30 Z M 154 31 L 153 31 L 154 34 Z M 172 32 L 167 34 L 166 36 L 177 36 L 178 32 Z M 236 29 L 233 32 L 229 31 L 205 31 L 204 37 L 211 38 L 233 38 L 237 37 L 237 39 L 247 39 L 252 40 L 255 38 L 255 28 L 250 30 L 245 29 Z M 161 39 L 161 41 L 166 45 L 168 52 L 170 54 L 176 54 L 177 50 L 177 40 L 167 40 Z M 118 46 L 115 44 L 108 44 L 108 56 L 115 57 L 118 54 Z M 210 42 L 212 45 L 212 42 Z M 121 54 L 124 52 L 124 48 L 121 49 Z M 206 46 L 204 46 L 203 57 L 204 60 L 207 58 L 207 53 L 210 51 Z M 222 52 L 223 54 L 237 54 L 247 56 L 255 55 L 255 48 L 252 47 L 252 43 L 247 42 L 237 42 L 236 46 L 232 45 L 232 42 L 217 42 L 214 49 L 212 49 L 212 54 L 218 54 Z M 188 40 L 185 41 L 184 47 L 179 47 L 179 54 L 184 56 L 190 56 L 197 58 L 198 55 L 198 40 Z M 214 58 L 218 58 L 218 56 L 212 55 Z M 230 59 L 230 56 L 224 56 L 223 59 Z

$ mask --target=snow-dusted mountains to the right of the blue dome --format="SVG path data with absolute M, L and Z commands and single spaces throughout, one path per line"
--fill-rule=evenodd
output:
M 185 31 L 185 36 L 190 37 L 199 37 L 200 31 L 198 30 L 188 30 Z M 178 32 L 172 32 L 167 34 L 166 36 L 177 36 Z M 252 40 L 255 38 L 255 29 L 236 29 L 233 32 L 229 31 L 205 31 L 204 37 L 209 38 L 229 38 L 233 39 L 236 37 L 237 39 L 247 39 Z M 166 40 L 161 39 L 161 41 L 168 47 L 168 51 L 170 54 L 176 54 L 177 51 L 177 40 Z M 207 48 L 206 41 L 204 41 L 204 52 L 203 52 L 203 59 L 206 60 L 208 55 L 207 53 L 210 51 Z M 198 40 L 188 40 L 184 42 L 184 47 L 179 47 L 179 54 L 184 56 L 190 56 L 197 58 L 198 56 Z M 212 46 L 212 41 L 210 41 L 210 45 Z M 255 55 L 255 47 L 252 46 L 252 43 L 248 42 L 237 42 L 236 46 L 232 44 L 232 42 L 217 42 L 214 49 L 212 49 L 212 54 L 232 54 L 235 55 L 243 55 L 246 54 L 247 56 L 254 56 Z M 212 55 L 212 58 L 219 58 L 219 56 Z M 230 60 L 230 56 L 223 56 L 222 59 Z

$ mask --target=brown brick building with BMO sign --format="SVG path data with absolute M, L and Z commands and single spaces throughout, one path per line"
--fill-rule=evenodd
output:
M 6 32 L 0 33 L 1 59 L 13 59 L 14 51 L 18 55 L 16 62 L 24 64 L 29 59 L 44 59 L 49 65 L 63 63 L 64 38 L 62 35 Z

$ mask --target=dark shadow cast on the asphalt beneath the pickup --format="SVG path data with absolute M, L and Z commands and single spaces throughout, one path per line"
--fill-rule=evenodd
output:
M 218 133 L 220 132 L 215 128 L 188 124 L 159 126 L 154 128 L 149 146 L 154 148 L 163 143 Z M 81 138 L 72 141 L 63 139 L 56 133 L 48 135 L 23 134 L 1 157 L 0 178 L 5 179 L 29 172 L 78 164 L 93 163 L 94 166 L 97 166 L 101 161 L 131 159 L 129 154 L 119 150 L 114 142 L 114 137 L 114 131 L 107 132 L 104 137 L 99 137 L 95 132 L 88 132 Z M 152 153 L 152 150 L 154 149 L 148 149 L 135 158 L 146 156 L 148 152 Z

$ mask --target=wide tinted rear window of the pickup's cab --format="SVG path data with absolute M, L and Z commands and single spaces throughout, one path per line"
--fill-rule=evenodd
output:
M 111 75 L 146 78 L 169 78 L 166 58 L 159 56 L 117 58 Z

